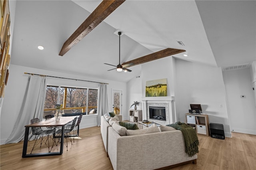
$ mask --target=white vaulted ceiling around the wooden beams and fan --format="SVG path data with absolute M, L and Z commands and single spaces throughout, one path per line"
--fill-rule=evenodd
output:
M 185 49 L 179 59 L 226 67 L 256 60 L 256 1 L 126 0 L 63 57 L 63 43 L 101 1 L 16 2 L 11 64 L 127 82 L 140 75 L 107 71 L 165 48 Z M 11 11 L 12 12 L 12 11 Z M 12 14 L 12 13 L 11 13 Z M 181 46 L 177 41 L 182 41 Z M 37 49 L 38 45 L 44 50 Z M 151 61 L 154 62 L 154 61 Z

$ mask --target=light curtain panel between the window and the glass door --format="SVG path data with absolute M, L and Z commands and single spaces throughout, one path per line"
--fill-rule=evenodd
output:
M 105 113 L 108 113 L 107 85 L 104 83 L 100 83 L 98 117 L 97 117 L 98 127 L 100 126 L 100 117 L 103 116 Z

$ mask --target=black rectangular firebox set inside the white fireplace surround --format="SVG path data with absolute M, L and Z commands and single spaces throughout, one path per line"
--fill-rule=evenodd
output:
M 166 121 L 165 107 L 149 107 L 149 119 Z

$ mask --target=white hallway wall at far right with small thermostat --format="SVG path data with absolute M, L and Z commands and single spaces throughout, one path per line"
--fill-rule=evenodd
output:
M 256 134 L 256 106 L 249 68 L 223 71 L 231 131 Z M 241 98 L 245 95 L 245 98 Z

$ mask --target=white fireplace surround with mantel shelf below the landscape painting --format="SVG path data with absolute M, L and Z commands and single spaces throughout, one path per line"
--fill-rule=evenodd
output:
M 161 96 L 161 97 L 142 97 L 142 102 L 143 102 L 143 119 L 149 119 L 149 113 L 148 113 L 148 106 L 149 105 L 165 105 L 166 107 L 166 111 L 168 115 L 166 115 L 166 122 L 161 122 L 160 124 L 163 123 L 163 125 L 167 125 L 169 123 L 175 123 L 176 122 L 176 115 L 175 115 L 175 111 L 173 111 L 174 109 L 174 96 Z M 153 104 L 154 103 L 154 104 Z M 157 123 L 157 122 L 156 122 Z

